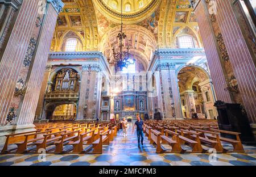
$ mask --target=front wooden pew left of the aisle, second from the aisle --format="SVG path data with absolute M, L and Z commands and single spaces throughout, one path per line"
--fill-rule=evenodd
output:
M 84 153 L 88 152 L 90 149 L 92 149 L 91 146 L 87 146 L 85 149 L 83 149 L 82 145 L 90 145 L 94 141 L 94 131 L 90 130 L 89 132 L 81 133 L 80 138 L 77 141 L 71 141 L 68 144 L 73 145 L 73 151 L 72 153 L 81 153 L 82 151 Z

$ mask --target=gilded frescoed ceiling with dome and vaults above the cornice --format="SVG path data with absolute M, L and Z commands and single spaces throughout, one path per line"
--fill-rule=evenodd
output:
M 118 3 L 117 9 L 112 8 L 113 1 Z M 121 24 L 119 15 L 121 0 L 63 0 L 63 2 L 65 6 L 57 19 L 51 51 L 63 50 L 63 43 L 67 37 L 77 37 L 82 45 L 79 51 L 100 50 L 111 57 L 110 48 L 114 41 L 117 42 L 113 35 L 118 32 Z M 199 27 L 189 0 L 143 0 L 141 8 L 138 7 L 139 2 L 123 0 L 123 8 L 125 3 L 131 5 L 131 11 L 123 13 L 123 23 L 128 30 L 126 33 L 129 33 L 127 36 L 134 41 L 131 44 L 134 46 L 131 48 L 138 50 L 135 52 L 141 54 L 142 58 L 146 57 L 146 62 L 150 60 L 151 53 L 158 48 L 177 48 L 176 37 L 179 35 L 193 36 L 196 47 L 202 47 Z M 141 14 L 140 18 L 138 18 L 139 14 Z M 134 31 L 131 26 L 136 26 L 138 30 Z M 135 34 L 139 36 L 137 47 L 135 47 Z

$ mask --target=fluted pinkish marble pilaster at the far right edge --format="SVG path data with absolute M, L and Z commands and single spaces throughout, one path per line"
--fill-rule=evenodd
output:
M 243 104 L 251 123 L 256 123 L 256 68 L 255 56 L 250 52 L 243 31 L 237 20 L 237 11 L 234 11 L 234 1 L 218 0 L 217 22 L 220 26 L 230 62 L 236 75 L 237 83 L 241 91 Z M 255 43 L 254 43 L 255 47 Z

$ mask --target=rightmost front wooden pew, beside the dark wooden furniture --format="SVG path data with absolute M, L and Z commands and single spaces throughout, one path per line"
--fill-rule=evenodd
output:
M 236 136 L 236 140 L 231 139 L 231 138 L 225 138 L 225 137 L 220 137 L 219 138 L 219 142 L 220 141 L 224 141 L 224 142 L 228 142 L 230 144 L 232 144 L 233 146 L 233 151 L 234 152 L 244 152 L 245 150 L 243 149 L 243 145 L 242 142 L 240 140 L 239 135 L 241 133 L 238 132 L 230 132 L 230 131 L 226 131 L 226 130 L 219 130 L 219 129 L 210 129 L 210 131 L 213 132 L 218 132 L 218 133 L 226 133 L 226 134 L 232 134 L 234 136 Z M 207 135 L 208 138 L 213 139 L 213 140 L 217 140 L 216 136 L 212 136 L 212 135 Z M 218 140 L 217 140 L 218 141 Z

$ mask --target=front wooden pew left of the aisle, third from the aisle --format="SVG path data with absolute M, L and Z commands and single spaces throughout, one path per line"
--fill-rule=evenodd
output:
M 76 135 L 77 133 L 77 135 Z M 60 141 L 55 141 L 55 153 L 64 153 L 63 146 L 67 145 L 69 141 L 77 141 L 79 140 L 80 130 L 76 130 L 75 132 L 68 132 L 61 134 Z

